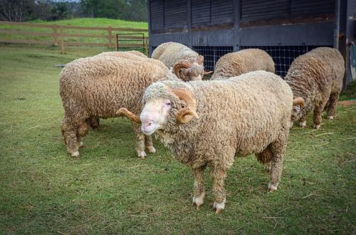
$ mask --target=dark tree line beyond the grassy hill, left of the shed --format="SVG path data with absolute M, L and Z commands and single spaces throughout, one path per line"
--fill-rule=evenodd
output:
M 147 0 L 0 0 L 1 21 L 56 21 L 80 17 L 147 21 Z

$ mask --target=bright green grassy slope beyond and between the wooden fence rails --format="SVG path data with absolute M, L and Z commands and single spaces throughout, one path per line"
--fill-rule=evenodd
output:
M 80 18 L 80 19 L 68 19 L 61 21 L 31 21 L 33 23 L 45 23 L 45 24 L 57 24 L 58 26 L 87 26 L 87 27 L 108 27 L 112 28 L 138 28 L 147 29 L 147 22 L 135 22 L 135 21 L 122 21 L 115 19 L 105 19 L 105 18 Z M 53 33 L 52 28 L 34 28 L 28 26 L 15 26 L 15 25 L 4 25 L 0 24 L 0 29 L 8 30 L 18 30 L 18 31 L 31 31 L 31 32 L 41 32 L 41 33 Z M 58 33 L 60 30 L 58 29 Z M 108 31 L 103 30 L 79 30 L 79 29 L 66 29 L 64 33 L 70 34 L 98 34 L 98 35 L 108 35 Z M 112 31 L 112 35 L 115 33 L 133 33 L 126 31 Z M 145 33 L 147 36 L 148 33 Z M 6 34 L 0 33 L 0 38 L 6 39 L 18 39 L 18 40 L 40 40 L 40 41 L 53 41 L 51 36 L 33 36 L 33 35 L 18 35 L 18 34 Z M 80 37 L 66 37 L 65 41 L 70 42 L 82 42 L 82 43 L 108 43 L 107 38 L 80 38 Z

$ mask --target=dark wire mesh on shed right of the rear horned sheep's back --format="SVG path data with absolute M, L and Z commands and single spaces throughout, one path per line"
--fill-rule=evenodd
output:
M 234 51 L 234 46 L 193 46 L 193 50 L 204 56 L 206 71 L 214 71 L 216 61 L 226 53 Z

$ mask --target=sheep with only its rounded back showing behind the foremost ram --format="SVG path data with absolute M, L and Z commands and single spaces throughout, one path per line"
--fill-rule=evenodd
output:
M 260 49 L 245 49 L 227 53 L 216 62 L 211 80 L 231 78 L 251 71 L 275 72 L 271 56 Z

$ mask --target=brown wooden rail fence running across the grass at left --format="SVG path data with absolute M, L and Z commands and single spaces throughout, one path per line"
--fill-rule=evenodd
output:
M 85 27 L 85 26 L 62 26 L 57 24 L 45 24 L 45 23 L 19 23 L 10 21 L 0 21 L 0 26 L 21 26 L 21 29 L 1 29 L 0 34 L 6 35 L 21 35 L 21 36 L 43 36 L 51 38 L 51 40 L 37 40 L 37 39 L 14 39 L 4 38 L 0 36 L 0 43 L 23 43 L 23 44 L 37 44 L 37 45 L 54 45 L 61 48 L 61 53 L 65 53 L 66 46 L 108 46 L 111 48 L 132 48 L 132 47 L 144 47 L 145 53 L 148 53 L 148 37 L 147 36 L 132 36 L 132 35 L 120 35 L 121 39 L 133 40 L 132 43 L 120 43 L 117 44 L 116 33 L 147 33 L 147 29 L 138 28 L 115 28 L 108 27 Z M 47 28 L 48 31 L 23 31 L 23 28 Z M 68 31 L 99 31 L 102 33 L 73 33 Z M 81 42 L 70 41 L 66 38 L 105 38 L 105 42 Z M 143 40 L 143 43 L 135 43 L 135 41 Z

